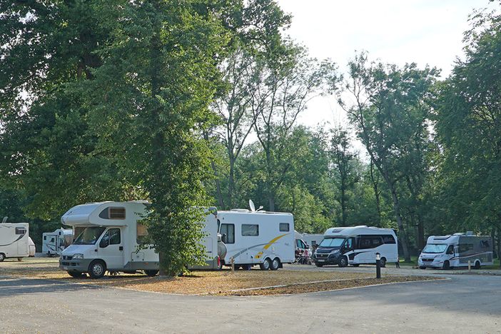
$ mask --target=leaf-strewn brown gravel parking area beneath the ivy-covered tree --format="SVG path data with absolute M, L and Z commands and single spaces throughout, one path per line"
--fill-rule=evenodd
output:
M 381 283 L 410 280 L 429 280 L 426 276 L 384 275 L 376 280 L 373 273 L 319 270 L 262 271 L 229 269 L 221 271 L 193 271 L 175 278 L 148 277 L 142 273 L 106 275 L 93 280 L 88 277 L 71 278 L 59 270 L 56 258 L 29 258 L 21 262 L 5 261 L 0 264 L 0 276 L 51 279 L 61 283 L 126 288 L 130 290 L 174 293 L 184 295 L 275 295 L 337 290 Z M 292 267 L 292 266 L 290 266 Z M 250 289 L 250 290 L 249 290 Z

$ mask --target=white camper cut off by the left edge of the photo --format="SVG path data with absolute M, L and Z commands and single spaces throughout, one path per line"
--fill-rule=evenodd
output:
M 21 260 L 33 251 L 28 223 L 0 223 L 0 262 L 6 258 Z

